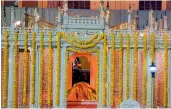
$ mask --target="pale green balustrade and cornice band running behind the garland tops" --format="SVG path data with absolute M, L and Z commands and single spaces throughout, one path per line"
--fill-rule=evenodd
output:
M 52 32 L 52 40 L 53 40 L 53 44 L 56 45 L 56 35 L 57 33 L 60 31 L 60 30 L 57 30 L 57 29 L 28 29 L 28 28 L 15 28 L 14 31 L 11 31 L 10 28 L 1 28 L 2 32 L 1 32 L 1 42 L 2 42 L 2 45 L 3 45 L 3 42 L 4 42 L 4 31 L 5 30 L 9 30 L 9 41 L 13 41 L 13 36 L 14 36 L 14 31 L 17 31 L 19 34 L 19 37 L 18 37 L 18 41 L 21 45 L 23 45 L 23 41 L 24 41 L 24 31 L 28 31 L 28 41 L 29 43 L 31 43 L 31 39 L 32 39 L 32 35 L 31 33 L 36 31 L 36 42 L 39 43 L 40 42 L 40 32 L 44 32 L 44 43 L 45 45 L 48 43 L 48 34 L 49 32 Z M 70 38 L 70 33 L 74 33 L 73 32 L 74 30 L 69 30 L 69 31 L 63 31 L 67 34 L 67 36 Z M 84 35 L 83 33 L 80 33 L 80 34 L 75 34 L 75 36 L 77 37 L 78 40 L 88 40 L 92 37 L 92 34 L 96 33 L 96 32 L 93 32 L 93 31 L 88 31 L 89 33 L 91 33 L 91 35 Z M 134 33 L 138 33 L 138 47 L 143 47 L 143 33 L 146 33 L 147 34 L 147 43 L 148 43 L 148 47 L 150 47 L 151 45 L 151 32 L 148 32 L 148 31 L 137 31 L 137 30 L 132 30 L 132 31 L 128 31 L 128 30 L 116 30 L 114 32 L 110 32 L 110 31 L 105 31 L 106 35 L 107 35 L 107 39 L 108 39 L 108 47 L 111 46 L 111 35 L 112 34 L 115 34 L 115 45 L 116 47 L 119 47 L 119 34 L 122 33 L 123 34 L 123 47 L 126 47 L 126 42 L 127 42 L 127 38 L 126 38 L 126 35 L 129 34 L 130 35 L 130 40 L 131 40 L 131 46 L 133 47 L 133 41 L 134 41 L 134 38 L 133 38 L 133 34 Z M 98 32 L 98 35 L 100 36 L 102 32 Z M 171 31 L 157 31 L 157 32 L 154 32 L 154 35 L 155 35 L 155 45 L 156 45 L 156 48 L 163 48 L 164 47 L 164 37 L 163 35 L 164 34 L 167 34 L 168 35 L 168 48 L 171 48 Z M 64 40 L 62 38 L 61 40 L 63 43 L 67 43 L 66 40 Z M 103 41 L 103 40 L 102 40 Z M 99 42 L 99 44 L 102 44 L 102 41 Z M 68 44 L 68 43 L 67 43 Z

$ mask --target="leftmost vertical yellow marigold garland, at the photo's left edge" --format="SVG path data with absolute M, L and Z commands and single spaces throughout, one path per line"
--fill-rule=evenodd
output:
M 2 107 L 7 106 L 7 84 L 8 84 L 8 31 L 4 32 L 4 76 L 3 76 L 3 90 L 2 90 Z

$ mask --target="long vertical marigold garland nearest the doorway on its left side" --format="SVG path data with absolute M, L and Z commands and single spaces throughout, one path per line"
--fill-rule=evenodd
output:
M 60 100 L 59 100 L 59 96 L 60 96 L 60 71 L 61 71 L 61 66 L 60 66 L 60 62 L 61 62 L 61 33 L 59 32 L 57 34 L 57 66 L 56 66 L 56 105 L 59 106 Z

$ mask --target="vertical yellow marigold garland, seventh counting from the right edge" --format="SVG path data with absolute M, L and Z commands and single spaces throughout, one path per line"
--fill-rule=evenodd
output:
M 111 50 L 111 70 L 110 70 L 110 105 L 113 106 L 114 105 L 114 89 L 115 89 L 115 35 L 112 34 L 112 41 L 111 41 L 111 45 L 112 45 L 112 50 Z

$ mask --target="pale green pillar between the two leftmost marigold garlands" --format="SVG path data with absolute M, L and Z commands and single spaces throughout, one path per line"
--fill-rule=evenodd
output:
M 9 73 L 8 73 L 8 105 L 7 108 L 11 108 L 12 107 L 12 97 L 13 97 L 13 48 L 14 48 L 14 43 L 13 42 L 9 42 L 10 46 L 9 46 Z

